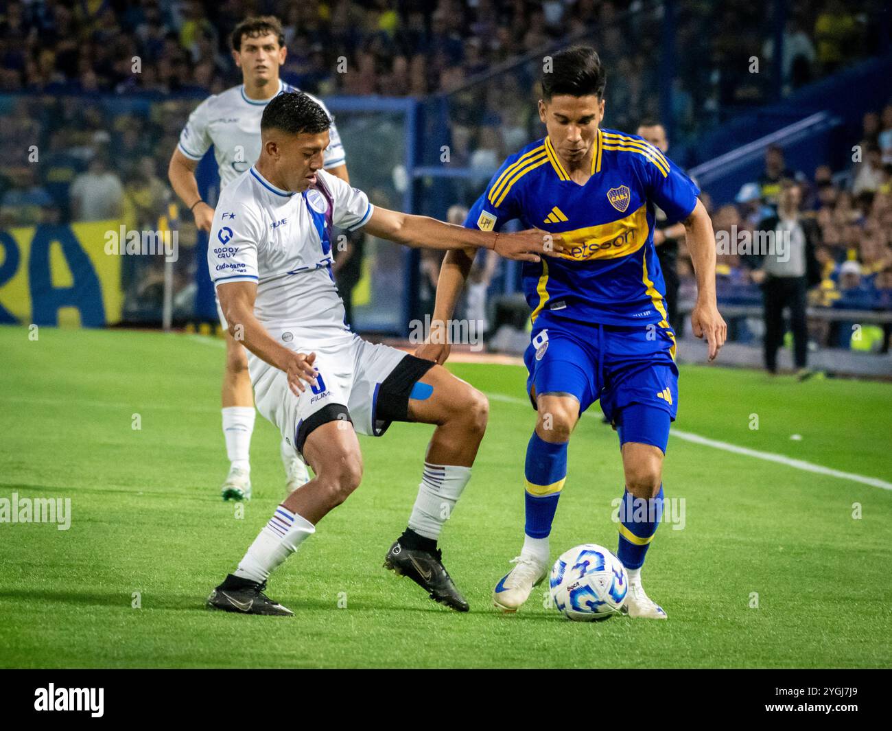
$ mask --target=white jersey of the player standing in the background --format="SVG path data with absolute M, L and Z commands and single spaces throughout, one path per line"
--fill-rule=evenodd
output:
M 278 84 L 279 94 L 283 91 L 300 91 L 285 84 L 282 79 Z M 332 118 L 325 104 L 315 96 L 307 96 Z M 269 101 L 249 99 L 244 94 L 244 85 L 209 96 L 189 115 L 189 121 L 179 135 L 179 151 L 190 160 L 198 161 L 213 145 L 220 187 L 227 187 L 260 157 L 260 117 Z M 343 165 L 346 156 L 334 121 L 328 134 L 330 141 L 323 155 L 323 164 L 326 169 L 331 169 Z

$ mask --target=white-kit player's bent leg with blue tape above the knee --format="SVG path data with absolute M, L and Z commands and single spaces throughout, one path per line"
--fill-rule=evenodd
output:
M 467 611 L 468 604 L 442 565 L 437 540 L 471 478 L 488 417 L 486 397 L 439 365 L 417 381 L 409 397 L 409 420 L 436 428 L 409 527 L 387 552 L 384 568 L 411 578 L 431 599 L 456 611 Z

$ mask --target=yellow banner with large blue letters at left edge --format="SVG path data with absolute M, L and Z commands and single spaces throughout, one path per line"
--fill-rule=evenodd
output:
M 103 220 L 0 230 L 0 323 L 101 328 L 120 322 L 120 256 Z

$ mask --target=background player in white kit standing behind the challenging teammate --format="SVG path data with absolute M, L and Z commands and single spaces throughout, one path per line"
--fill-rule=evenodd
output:
M 195 226 L 202 231 L 211 229 L 214 209 L 199 195 L 195 180 L 198 162 L 213 145 L 220 187 L 227 187 L 248 170 L 260 154 L 260 115 L 269 100 L 283 91 L 297 91 L 279 79 L 279 67 L 285 62 L 286 49 L 285 36 L 277 18 L 245 19 L 233 30 L 231 42 L 235 65 L 242 70 L 244 83 L 222 94 L 210 96 L 198 105 L 180 134 L 168 171 L 170 184 L 183 203 L 190 207 Z M 326 109 L 325 104 L 318 99 L 315 101 Z M 343 145 L 334 123 L 330 134 L 331 144 L 325 153 L 325 169 L 350 182 Z M 221 493 L 224 500 L 250 499 L 249 453 L 255 412 L 248 360 L 244 347 L 228 334 L 219 302 L 217 309 L 227 346 L 221 400 L 229 472 Z M 286 490 L 291 492 L 307 481 L 307 468 L 285 442 L 281 444 L 281 453 L 285 464 Z

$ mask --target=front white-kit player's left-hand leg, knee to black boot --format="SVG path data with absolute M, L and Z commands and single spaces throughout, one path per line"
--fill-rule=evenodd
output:
M 350 421 L 328 421 L 310 432 L 303 454 L 316 473 L 289 494 L 238 564 L 208 597 L 208 606 L 244 614 L 291 616 L 264 590 L 270 573 L 316 532 L 316 524 L 343 503 L 362 479 L 362 453 Z

